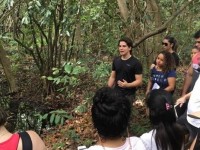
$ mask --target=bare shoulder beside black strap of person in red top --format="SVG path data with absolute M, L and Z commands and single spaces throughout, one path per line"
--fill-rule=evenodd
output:
M 33 144 L 33 150 L 47 150 L 43 140 L 40 138 L 40 136 L 35 131 L 26 131 L 30 137 Z

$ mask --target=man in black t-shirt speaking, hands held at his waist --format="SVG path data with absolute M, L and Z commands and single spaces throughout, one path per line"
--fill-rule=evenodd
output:
M 116 88 L 131 102 L 135 100 L 137 87 L 142 84 L 142 65 L 131 55 L 132 40 L 124 37 L 119 40 L 120 56 L 113 60 L 108 86 Z

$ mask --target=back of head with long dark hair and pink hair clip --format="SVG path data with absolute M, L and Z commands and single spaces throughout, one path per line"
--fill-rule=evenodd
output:
M 162 150 L 178 150 L 183 144 L 183 133 L 176 124 L 172 95 L 163 90 L 152 90 L 146 98 L 149 119 L 156 132 L 157 148 Z

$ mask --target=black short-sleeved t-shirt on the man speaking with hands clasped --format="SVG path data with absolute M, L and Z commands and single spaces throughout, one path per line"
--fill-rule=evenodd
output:
M 117 57 L 113 60 L 112 71 L 116 72 L 115 88 L 122 92 L 123 95 L 134 95 L 136 87 L 121 88 L 117 85 L 117 81 L 123 81 L 123 79 L 128 83 L 135 81 L 135 75 L 142 74 L 142 64 L 139 60 L 133 56 L 127 60 Z

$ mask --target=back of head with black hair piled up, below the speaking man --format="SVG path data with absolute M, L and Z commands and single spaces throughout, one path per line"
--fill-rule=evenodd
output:
M 125 133 L 131 105 L 127 98 L 116 90 L 103 87 L 93 97 L 92 120 L 101 138 L 114 139 Z

